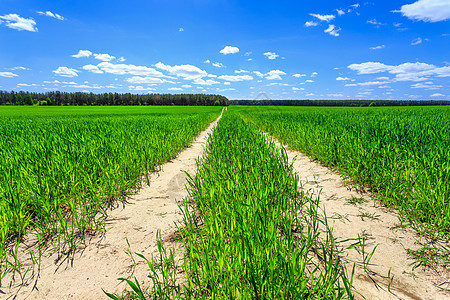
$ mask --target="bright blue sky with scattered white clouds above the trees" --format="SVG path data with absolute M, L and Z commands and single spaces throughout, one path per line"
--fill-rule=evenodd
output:
M 450 100 L 449 0 L 2 0 L 0 41 L 7 91 Z

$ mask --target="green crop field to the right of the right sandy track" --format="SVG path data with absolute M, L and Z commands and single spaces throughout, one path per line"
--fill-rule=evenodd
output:
M 240 115 L 397 207 L 450 234 L 450 108 L 240 107 Z

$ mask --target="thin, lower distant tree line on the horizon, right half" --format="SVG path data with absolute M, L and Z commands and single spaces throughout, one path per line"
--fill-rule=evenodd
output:
M 272 106 L 426 106 L 450 105 L 450 101 L 410 100 L 231 100 L 230 105 Z

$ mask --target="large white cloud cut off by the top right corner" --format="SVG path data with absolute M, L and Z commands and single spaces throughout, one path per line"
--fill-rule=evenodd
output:
M 411 20 L 424 22 L 439 22 L 450 19 L 450 1 L 448 0 L 418 0 L 412 4 L 403 5 L 400 10 L 403 16 Z

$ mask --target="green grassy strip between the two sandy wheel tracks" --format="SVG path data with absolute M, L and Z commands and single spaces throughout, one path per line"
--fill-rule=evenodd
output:
M 186 283 L 158 244 L 153 286 L 140 299 L 352 298 L 318 199 L 299 189 L 288 156 L 253 125 L 225 113 L 210 137 L 180 227 Z M 328 230 L 327 230 L 328 229 Z M 125 279 L 124 279 L 125 280 Z M 118 296 L 108 294 L 113 299 Z

